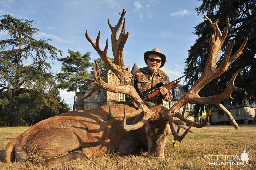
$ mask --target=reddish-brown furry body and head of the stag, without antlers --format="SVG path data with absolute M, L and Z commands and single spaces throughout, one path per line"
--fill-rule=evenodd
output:
M 142 148 L 148 148 L 149 153 L 156 153 L 156 157 L 165 159 L 163 149 L 171 133 L 168 121 L 161 118 L 162 111 L 167 111 L 165 107 L 152 107 L 156 111 L 155 118 L 142 128 L 131 131 L 122 127 L 122 119 L 103 122 L 109 116 L 109 107 L 112 112 L 124 112 L 124 105 L 112 104 L 92 110 L 63 113 L 36 123 L 8 143 L 4 161 L 27 160 L 30 153 L 36 152 L 44 158 L 57 157 L 55 160 L 61 161 L 73 158 L 74 154 L 61 157 L 72 152 L 79 153 L 73 158 L 76 160 L 79 155 L 91 158 L 113 151 L 129 154 L 139 152 Z M 128 113 L 135 111 L 134 108 L 125 107 Z M 135 119 L 128 118 L 127 123 L 132 124 Z

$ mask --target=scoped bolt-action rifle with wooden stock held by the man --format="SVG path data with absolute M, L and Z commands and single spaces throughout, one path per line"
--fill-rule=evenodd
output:
M 196 71 L 199 68 L 200 67 L 197 67 L 195 70 L 189 72 L 188 74 L 193 73 L 194 71 Z M 170 82 L 168 84 L 165 84 L 165 85 L 163 84 L 163 82 L 160 82 L 160 83 L 156 84 L 156 86 L 154 86 L 154 87 L 152 87 L 150 89 L 148 88 L 144 92 L 140 93 L 139 96 L 141 97 L 143 102 L 151 102 L 151 98 L 152 97 L 154 97 L 156 95 L 158 95 L 158 96 L 160 95 L 160 87 L 161 86 L 165 87 L 166 89 L 171 89 L 171 88 L 175 87 L 181 81 L 181 78 L 187 76 L 188 74 L 183 75 L 180 78 L 178 78 L 178 79 L 176 79 L 176 80 L 174 80 L 174 81 L 172 81 L 172 82 Z M 154 91 L 152 91 L 152 90 L 154 90 Z

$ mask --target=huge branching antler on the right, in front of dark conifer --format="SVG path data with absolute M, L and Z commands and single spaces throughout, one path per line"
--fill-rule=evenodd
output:
M 220 108 L 220 110 L 222 110 L 227 115 L 228 120 L 232 123 L 232 125 L 236 129 L 238 129 L 238 125 L 237 125 L 236 121 L 234 120 L 233 116 L 222 104 L 220 104 L 220 102 L 224 101 L 228 98 L 232 98 L 231 97 L 232 91 L 243 90 L 241 88 L 237 88 L 234 86 L 234 81 L 236 79 L 236 76 L 243 68 L 239 69 L 233 75 L 233 77 L 229 81 L 227 88 L 221 94 L 218 94 L 215 96 L 209 96 L 209 97 L 201 97 L 198 95 L 198 92 L 210 81 L 212 81 L 213 79 L 219 77 L 222 73 L 224 73 L 224 71 L 228 68 L 228 66 L 231 63 L 233 63 L 240 56 L 240 54 L 242 54 L 242 50 L 245 47 L 245 44 L 248 40 L 248 36 L 244 40 L 244 43 L 241 45 L 240 49 L 232 57 L 230 57 L 230 56 L 231 56 L 232 47 L 233 47 L 235 41 L 233 43 L 228 43 L 225 57 L 224 57 L 223 61 L 221 62 L 220 67 L 216 68 L 216 62 L 217 62 L 218 56 L 220 54 L 221 46 L 224 43 L 224 40 L 228 34 L 229 20 L 227 18 L 226 28 L 222 35 L 220 32 L 220 29 L 218 28 L 218 21 L 215 24 L 213 24 L 211 19 L 209 19 L 206 15 L 204 15 L 204 16 L 208 20 L 208 22 L 211 24 L 211 26 L 214 30 L 214 33 L 210 37 L 209 54 L 208 54 L 208 59 L 207 59 L 205 68 L 204 68 L 204 72 L 201 75 L 201 77 L 195 82 L 195 84 L 193 84 L 193 86 L 188 90 L 188 92 L 180 99 L 180 101 L 177 102 L 176 104 L 174 104 L 168 112 L 163 114 L 163 118 L 168 120 L 170 123 L 172 135 L 180 142 L 187 135 L 188 130 L 186 132 L 184 132 L 183 135 L 181 135 L 181 136 L 178 135 L 178 133 L 175 131 L 175 128 L 174 128 L 173 117 L 178 117 L 180 120 L 183 120 L 184 122 L 191 124 L 191 126 L 189 128 L 191 128 L 192 126 L 197 127 L 197 128 L 203 127 L 202 123 L 201 124 L 195 123 L 191 120 L 186 119 L 185 117 L 181 116 L 178 113 L 178 110 L 183 105 L 185 105 L 187 103 L 191 103 L 191 102 L 195 102 L 195 103 L 199 103 L 199 104 L 214 104 L 214 105 L 216 105 L 217 107 Z M 209 119 L 209 113 L 210 113 L 210 111 L 208 112 L 208 114 L 206 116 L 206 120 L 204 121 L 206 123 L 208 122 L 208 119 Z

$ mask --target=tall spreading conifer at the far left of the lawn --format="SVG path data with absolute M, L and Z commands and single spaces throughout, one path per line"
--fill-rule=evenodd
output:
M 34 23 L 11 15 L 2 15 L 0 20 L 0 32 L 9 38 L 0 40 L 0 112 L 1 120 L 11 126 L 24 117 L 36 117 L 44 106 L 54 114 L 61 107 L 46 59 L 53 61 L 62 51 L 48 44 L 49 40 L 34 39 L 39 32 Z

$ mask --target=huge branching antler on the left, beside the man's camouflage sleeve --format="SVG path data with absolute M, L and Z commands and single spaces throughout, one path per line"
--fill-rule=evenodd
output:
M 108 25 L 111 29 L 111 43 L 112 43 L 112 51 L 113 51 L 113 56 L 114 56 L 114 62 L 112 63 L 111 60 L 108 58 L 107 56 L 107 50 L 108 50 L 108 38 L 106 40 L 106 46 L 105 49 L 103 51 L 100 50 L 100 45 L 99 45 L 99 40 L 100 40 L 100 31 L 97 35 L 97 39 L 96 39 L 96 43 L 94 43 L 92 41 L 92 39 L 89 37 L 87 30 L 86 30 L 86 38 L 87 40 L 92 44 L 93 48 L 98 52 L 98 54 L 100 55 L 100 57 L 103 59 L 104 63 L 108 66 L 108 68 L 115 73 L 115 75 L 118 77 L 120 84 L 118 86 L 112 86 L 109 85 L 107 83 L 105 83 L 104 81 L 102 81 L 101 77 L 100 77 L 100 69 L 98 66 L 97 61 L 95 60 L 96 63 L 96 69 L 93 70 L 94 72 L 94 82 L 97 85 L 97 88 L 92 89 L 93 91 L 97 90 L 98 88 L 101 89 L 106 89 L 108 91 L 114 92 L 114 93 L 124 93 L 124 94 L 128 94 L 130 97 L 132 97 L 132 99 L 136 102 L 136 104 L 138 105 L 139 109 L 133 113 L 120 113 L 120 114 L 112 114 L 111 109 L 110 109 L 110 116 L 114 117 L 114 118 L 123 118 L 124 117 L 124 128 L 126 130 L 133 130 L 133 129 L 138 129 L 140 127 L 142 127 L 148 119 L 154 118 L 155 116 L 155 112 L 151 111 L 148 109 L 148 107 L 144 104 L 144 102 L 141 100 L 140 96 L 138 95 L 138 93 L 136 92 L 135 88 L 132 85 L 132 82 L 130 80 L 130 77 L 128 76 L 128 74 L 126 73 L 125 70 L 125 66 L 124 66 L 124 60 L 123 60 L 123 48 L 124 48 L 124 44 L 126 43 L 126 40 L 128 38 L 129 33 L 127 32 L 127 34 L 125 34 L 125 19 L 124 19 L 124 15 L 125 15 L 126 11 L 123 9 L 123 12 L 121 14 L 121 17 L 117 23 L 117 25 L 115 27 L 112 27 L 110 24 L 110 21 L 108 19 Z M 122 21 L 124 19 L 124 23 L 123 23 L 123 27 L 121 29 L 121 33 L 119 35 L 119 38 L 117 39 L 117 32 L 119 30 L 119 28 L 122 25 Z M 96 86 L 95 86 L 96 87 Z M 88 94 L 86 94 L 83 99 L 89 97 L 91 95 L 91 93 L 93 92 L 89 92 Z M 141 121 L 139 121 L 138 123 L 136 123 L 135 125 L 126 125 L 126 117 L 132 117 L 132 116 L 136 116 L 140 113 L 144 114 L 144 117 Z

